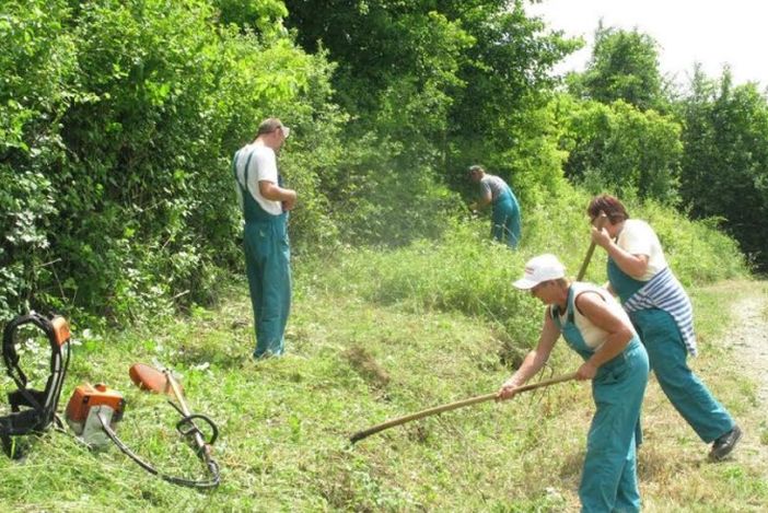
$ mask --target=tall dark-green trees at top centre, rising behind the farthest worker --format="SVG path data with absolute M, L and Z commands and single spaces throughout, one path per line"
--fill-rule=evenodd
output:
M 335 195 L 340 205 L 354 198 L 359 206 L 360 194 L 388 173 L 397 176 L 388 184 L 410 195 L 424 187 L 421 177 L 411 182 L 412 170 L 461 188 L 462 172 L 480 161 L 507 178 L 514 175 L 513 185 L 522 186 L 525 177 L 526 195 L 559 177 L 560 154 L 546 133 L 547 91 L 554 85 L 548 71 L 578 43 L 544 34 L 544 23 L 525 15 L 522 0 L 286 4 L 286 24 L 302 47 L 327 49 L 338 65 L 336 100 L 352 118 L 346 147 L 365 141 L 374 148 L 368 158 L 354 151 L 362 160 L 341 170 Z M 538 180 L 539 174 L 547 178 Z M 400 201 L 408 191 L 392 196 Z

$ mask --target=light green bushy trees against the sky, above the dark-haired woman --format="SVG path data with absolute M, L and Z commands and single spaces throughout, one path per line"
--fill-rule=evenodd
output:
M 653 38 L 601 23 L 586 70 L 570 73 L 567 83 L 570 94 L 558 98 L 566 175 L 594 194 L 607 189 L 675 205 L 682 128 L 660 114 L 668 98 Z

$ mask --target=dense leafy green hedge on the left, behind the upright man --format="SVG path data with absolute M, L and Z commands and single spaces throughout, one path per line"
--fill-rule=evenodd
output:
M 304 164 L 329 159 L 342 119 L 322 55 L 218 24 L 199 0 L 3 11 L 3 316 L 53 304 L 142 317 L 171 298 L 205 301 L 240 261 L 229 155 L 269 114 L 312 135 L 293 150 L 302 165 L 286 166 L 307 198 L 296 238 L 328 231 L 318 166 Z

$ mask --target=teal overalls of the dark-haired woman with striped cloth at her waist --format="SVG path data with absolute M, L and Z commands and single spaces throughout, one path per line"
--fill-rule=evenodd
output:
M 624 272 L 610 257 L 608 281 L 621 302 L 645 284 Z M 649 308 L 630 312 L 629 318 L 645 346 L 651 369 L 664 395 L 696 434 L 709 443 L 731 431 L 735 422 L 686 363 L 688 353 L 672 315 Z

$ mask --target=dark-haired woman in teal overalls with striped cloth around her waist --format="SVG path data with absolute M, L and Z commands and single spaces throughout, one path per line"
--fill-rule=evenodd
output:
M 670 270 L 659 237 L 644 221 L 629 219 L 621 201 L 609 195 L 592 199 L 593 224 L 604 213 L 608 223 L 592 229 L 592 241 L 608 254 L 608 282 L 640 336 L 656 380 L 672 405 L 706 443 L 709 456 L 724 458 L 742 436 L 741 429 L 690 370 L 696 355 L 690 300 Z

